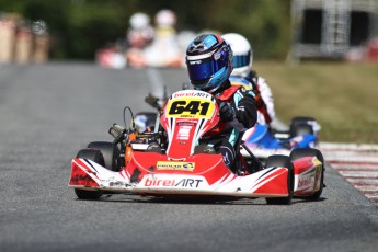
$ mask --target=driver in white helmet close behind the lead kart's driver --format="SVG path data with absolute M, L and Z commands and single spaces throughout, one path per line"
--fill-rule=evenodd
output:
M 259 77 L 252 69 L 253 49 L 248 39 L 237 33 L 227 33 L 222 35 L 233 51 L 233 70 L 231 72 L 231 84 L 241 84 L 245 89 L 252 89 L 255 94 L 257 107 L 257 123 L 271 125 L 275 118 L 273 94 L 266 80 Z

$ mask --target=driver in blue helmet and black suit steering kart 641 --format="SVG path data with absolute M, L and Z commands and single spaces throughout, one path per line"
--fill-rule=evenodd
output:
M 233 68 L 230 45 L 219 35 L 202 34 L 186 48 L 186 67 L 194 89 L 213 94 L 218 101 L 221 123 L 210 131 L 214 147 L 231 170 L 243 133 L 256 123 L 254 93 L 242 85 L 231 85 Z M 206 137 L 206 136 L 205 136 Z

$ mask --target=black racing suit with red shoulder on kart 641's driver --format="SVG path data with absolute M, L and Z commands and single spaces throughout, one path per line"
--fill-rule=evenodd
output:
M 216 136 L 213 138 L 215 150 L 224 156 L 226 165 L 233 170 L 241 138 L 244 131 L 253 127 L 257 119 L 254 94 L 251 90 L 247 91 L 241 85 L 231 85 L 230 81 L 227 81 L 214 95 L 220 104 L 230 104 L 233 115 L 231 118 L 222 118 L 225 115 L 222 114 L 222 105 L 220 105 L 221 122 L 217 128 L 206 134 L 205 138 Z

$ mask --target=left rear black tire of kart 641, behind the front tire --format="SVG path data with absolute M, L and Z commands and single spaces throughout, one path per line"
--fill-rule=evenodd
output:
M 119 149 L 116 145 L 108 141 L 92 141 L 88 145 L 88 149 L 100 150 L 104 157 L 105 168 L 114 172 L 119 171 L 117 164 Z

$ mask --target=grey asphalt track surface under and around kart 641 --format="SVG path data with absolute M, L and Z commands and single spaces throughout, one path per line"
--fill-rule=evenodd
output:
M 173 69 L 91 64 L 0 66 L 0 251 L 377 251 L 377 207 L 327 167 L 321 201 L 79 201 L 70 161 L 112 140 L 123 108 L 150 111 L 148 92 L 179 90 Z

